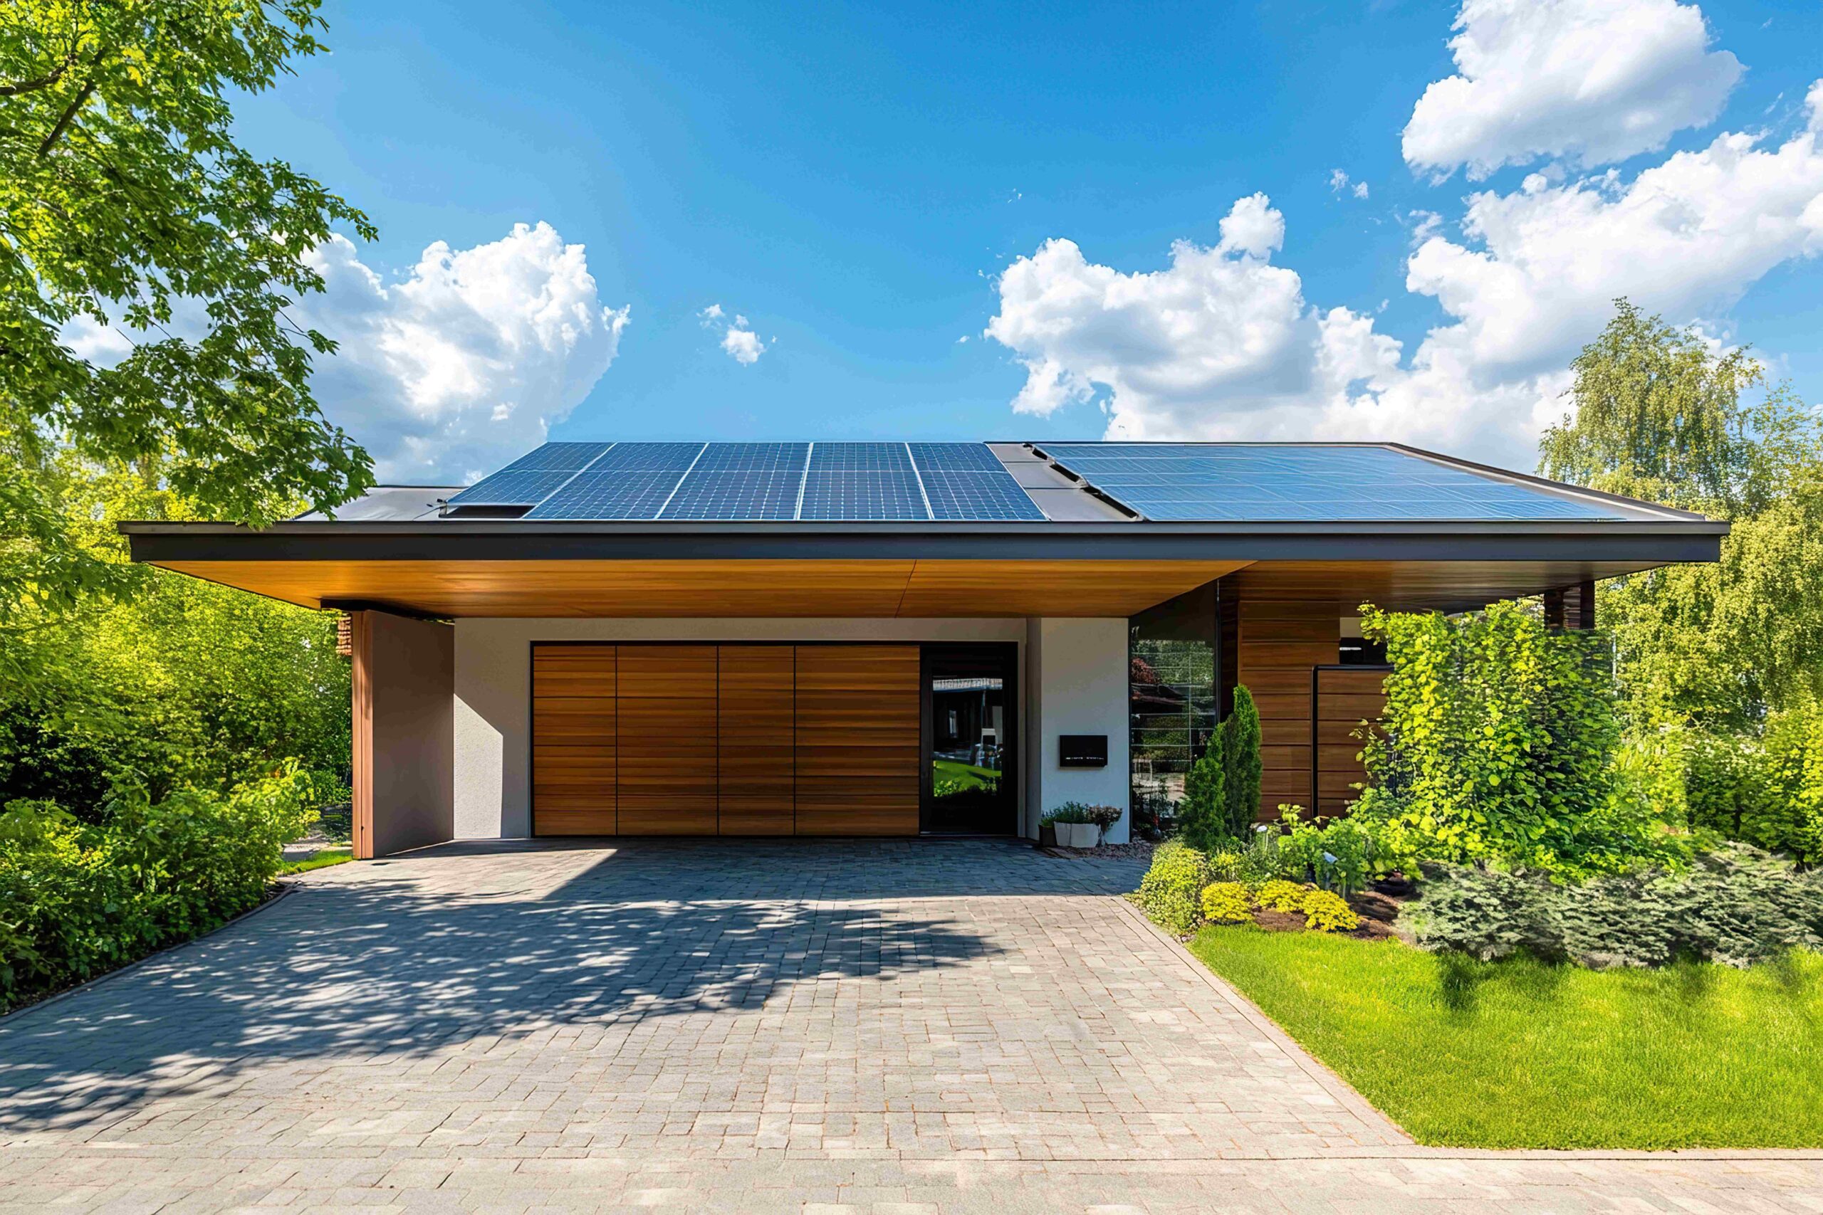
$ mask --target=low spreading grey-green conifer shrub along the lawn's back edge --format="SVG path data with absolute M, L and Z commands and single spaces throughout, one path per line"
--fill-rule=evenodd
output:
M 1582 965 L 1728 965 L 1823 945 L 1823 878 L 1745 843 L 1688 871 L 1602 876 L 1579 887 L 1539 874 L 1440 869 L 1411 911 L 1418 942 L 1499 958 L 1526 949 Z

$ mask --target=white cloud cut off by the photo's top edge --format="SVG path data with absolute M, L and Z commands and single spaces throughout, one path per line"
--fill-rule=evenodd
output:
M 1457 75 L 1424 91 L 1404 133 L 1406 162 L 1438 177 L 1624 160 L 1712 122 L 1741 78 L 1677 0 L 1464 0 L 1455 31 Z

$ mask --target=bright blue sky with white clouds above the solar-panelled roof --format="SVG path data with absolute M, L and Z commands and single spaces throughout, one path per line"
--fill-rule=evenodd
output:
M 1517 58 L 1573 20 L 1595 22 L 1606 40 L 1626 22 L 1664 29 L 1666 13 L 1697 20 L 1695 5 L 1675 0 L 1555 4 L 1555 24 L 1529 35 L 1497 26 L 1500 13 L 1480 13 L 1473 29 L 1484 51 Z M 1420 386 L 1411 375 L 1431 330 L 1464 315 L 1497 324 L 1506 308 L 1509 286 L 1477 286 L 1460 257 L 1446 257 L 1484 250 L 1458 228 L 1466 199 L 1520 199 L 1528 175 L 1542 175 L 1529 195 L 1539 199 L 1606 173 L 1588 189 L 1613 197 L 1675 153 L 1705 155 L 1725 131 L 1756 135 L 1770 155 L 1812 138 L 1805 95 L 1823 75 L 1823 5 L 1703 4 L 1706 46 L 1664 38 L 1646 49 L 1657 67 L 1632 64 L 1639 84 L 1604 102 L 1617 131 L 1641 113 L 1670 113 L 1675 129 L 1655 146 L 1632 151 L 1622 133 L 1590 153 L 1542 135 L 1544 151 L 1519 153 L 1520 164 L 1435 180 L 1437 166 L 1407 162 L 1402 131 L 1426 87 L 1460 71 L 1449 4 L 653 2 L 521 4 L 503 15 L 332 0 L 324 16 L 334 53 L 242 100 L 239 126 L 252 149 L 315 173 L 379 224 L 379 240 L 352 251 L 379 275 L 377 291 L 410 277 L 432 242 L 463 251 L 501 242 L 514 224 L 547 224 L 552 240 L 583 246 L 596 299 L 583 291 L 571 302 L 627 310 L 613 342 L 603 324 L 592 344 L 547 344 L 521 359 L 512 341 L 485 333 L 514 317 L 483 306 L 476 357 L 489 370 L 458 375 L 469 388 L 439 395 L 423 390 L 434 375 L 423 364 L 399 372 L 396 359 L 363 353 L 363 342 L 388 341 L 359 319 L 370 308 L 326 302 L 315 317 L 365 375 L 326 373 L 324 406 L 396 479 L 461 479 L 545 426 L 558 439 L 1099 437 L 1110 408 L 1116 434 L 1141 437 L 1385 437 L 1524 466 L 1537 428 L 1526 410 L 1550 412 L 1539 401 L 1562 386 L 1551 375 L 1573 353 L 1566 337 L 1526 350 L 1477 339 L 1453 381 Z M 1621 24 L 1604 33 L 1599 22 Z M 1723 53 L 1739 67 L 1715 58 Z M 1705 71 L 1710 98 L 1675 95 Z M 1560 104 L 1560 131 L 1610 120 L 1579 111 L 1586 102 L 1573 93 L 1495 100 Z M 1440 129 L 1457 129 L 1453 115 L 1440 118 Z M 1491 129 L 1482 144 L 1502 138 L 1519 137 Z M 1787 155 L 1803 164 L 1774 166 L 1792 179 L 1779 188 L 1796 235 L 1715 257 L 1697 242 L 1635 260 L 1637 290 L 1668 302 L 1668 319 L 1754 342 L 1807 397 L 1823 399 L 1814 257 L 1823 233 L 1801 228 L 1810 153 L 1807 144 Z M 1333 180 L 1336 169 L 1347 184 Z M 1169 271 L 1178 240 L 1218 250 L 1223 217 L 1256 193 L 1269 202 L 1243 219 L 1278 219 L 1252 244 L 1210 253 L 1212 279 L 1187 277 L 1183 291 L 1121 279 Z M 1823 200 L 1814 209 L 1823 219 Z M 1582 224 L 1557 222 L 1550 240 L 1560 253 Z M 1752 217 L 1734 222 L 1752 228 Z M 1449 248 L 1433 250 L 1427 293 L 1407 279 L 1429 233 Z M 1028 262 L 1026 293 L 1008 302 L 1003 271 L 1052 239 L 1074 242 L 1079 260 Z M 1531 255 L 1517 244 L 1495 260 Z M 1705 279 L 1697 262 L 1717 259 L 1734 259 L 1730 270 Z M 1679 277 L 1686 260 L 1699 282 Z M 512 286 L 501 295 L 476 279 L 476 293 L 530 291 L 525 308 L 538 308 L 536 266 L 494 270 Z M 1635 293 L 1632 275 L 1622 264 L 1586 291 Z M 1072 302 L 1083 290 L 1096 299 Z M 1482 291 L 1480 302 L 1451 311 L 1446 301 L 1464 291 Z M 401 308 L 388 299 L 383 311 Z M 1127 302 L 1110 311 L 1110 299 Z M 706 324 L 709 304 L 724 315 Z M 1183 322 L 1187 306 L 1209 315 Z M 1349 310 L 1356 335 L 1367 326 L 1400 342 L 1396 366 L 1378 379 L 1353 362 L 1334 379 L 1313 373 L 1307 352 L 1342 332 L 1340 319 L 1323 324 L 1336 308 Z M 997 313 L 1001 337 L 984 337 Z M 448 315 L 408 317 L 390 341 L 412 344 L 412 324 L 469 328 Z M 751 362 L 720 344 L 735 315 L 758 342 Z M 1550 328 L 1548 319 L 1522 328 Z M 1225 342 L 1245 348 L 1256 321 L 1276 335 L 1227 359 Z M 474 355 L 472 342 L 450 341 L 458 364 Z M 1057 388 L 1026 393 L 1015 414 L 1034 362 Z M 419 404 L 383 401 L 388 392 L 416 392 Z M 507 423 L 501 393 L 512 397 Z

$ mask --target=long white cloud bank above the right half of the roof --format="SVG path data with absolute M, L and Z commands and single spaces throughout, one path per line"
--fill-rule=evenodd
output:
M 1108 437 L 1402 439 L 1524 468 L 1617 295 L 1695 322 L 1823 253 L 1819 111 L 1823 86 L 1783 144 L 1721 135 L 1632 180 L 1531 175 L 1471 197 L 1457 239 L 1415 215 L 1406 286 L 1447 321 L 1409 357 L 1373 315 L 1311 304 L 1272 264 L 1285 222 L 1263 195 L 1234 204 L 1214 248 L 1174 244 L 1163 270 L 1046 240 L 999 277 L 986 337 L 1025 366 L 1014 410 L 1099 401 Z

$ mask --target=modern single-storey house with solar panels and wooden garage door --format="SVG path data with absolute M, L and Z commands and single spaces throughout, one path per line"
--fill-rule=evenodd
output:
M 1035 836 L 1181 791 L 1236 683 L 1334 812 L 1362 603 L 1714 561 L 1726 525 L 1398 444 L 547 443 L 133 557 L 352 618 L 357 854 L 469 836 Z M 1110 832 L 1127 838 L 1128 820 Z

